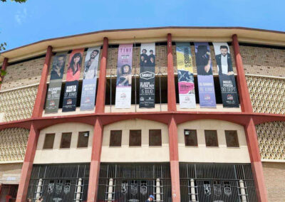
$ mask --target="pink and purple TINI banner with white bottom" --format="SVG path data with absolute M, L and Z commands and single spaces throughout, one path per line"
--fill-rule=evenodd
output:
M 129 109 L 132 94 L 133 44 L 120 44 L 118 48 L 115 108 Z

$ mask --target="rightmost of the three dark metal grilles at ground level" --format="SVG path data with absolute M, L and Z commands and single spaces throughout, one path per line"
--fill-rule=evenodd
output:
M 192 195 L 199 202 L 257 201 L 250 164 L 180 163 L 180 188 L 183 202 L 192 201 Z

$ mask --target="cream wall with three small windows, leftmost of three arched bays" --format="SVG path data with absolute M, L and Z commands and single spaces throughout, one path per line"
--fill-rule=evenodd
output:
M 71 147 L 61 149 L 62 133 L 72 132 Z M 88 147 L 78 148 L 78 133 L 89 132 Z M 43 149 L 46 134 L 55 133 L 53 149 Z M 93 126 L 81 123 L 56 124 L 42 129 L 38 137 L 38 145 L 34 164 L 64 164 L 90 162 L 93 141 Z

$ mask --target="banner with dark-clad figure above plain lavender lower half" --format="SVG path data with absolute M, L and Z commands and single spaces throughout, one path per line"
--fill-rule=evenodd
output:
M 209 43 L 195 42 L 200 107 L 216 107 Z

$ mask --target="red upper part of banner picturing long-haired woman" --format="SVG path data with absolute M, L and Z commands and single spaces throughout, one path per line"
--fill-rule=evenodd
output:
M 73 50 L 69 55 L 66 81 L 79 80 L 84 49 Z

